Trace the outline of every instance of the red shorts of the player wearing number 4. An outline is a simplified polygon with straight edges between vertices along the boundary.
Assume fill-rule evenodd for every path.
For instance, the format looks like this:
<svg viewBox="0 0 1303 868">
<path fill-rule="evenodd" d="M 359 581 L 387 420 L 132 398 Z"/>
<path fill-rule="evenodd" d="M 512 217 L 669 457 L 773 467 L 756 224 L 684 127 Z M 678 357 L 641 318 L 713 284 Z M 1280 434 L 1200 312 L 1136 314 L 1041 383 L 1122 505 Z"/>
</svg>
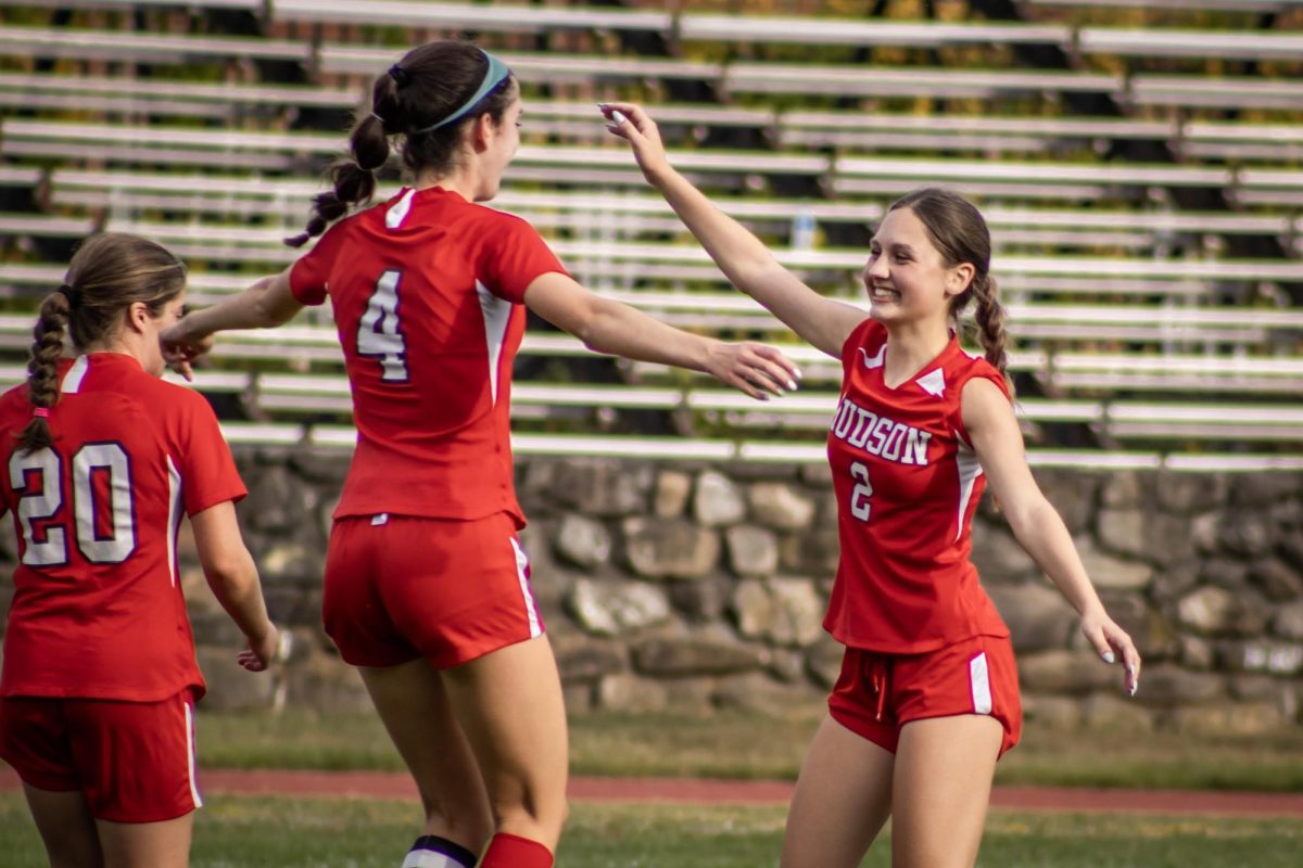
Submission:
<svg viewBox="0 0 1303 868">
<path fill-rule="evenodd" d="M 322 608 L 326 632 L 354 666 L 425 657 L 448 669 L 543 634 L 529 560 L 506 513 L 336 521 Z"/>
</svg>

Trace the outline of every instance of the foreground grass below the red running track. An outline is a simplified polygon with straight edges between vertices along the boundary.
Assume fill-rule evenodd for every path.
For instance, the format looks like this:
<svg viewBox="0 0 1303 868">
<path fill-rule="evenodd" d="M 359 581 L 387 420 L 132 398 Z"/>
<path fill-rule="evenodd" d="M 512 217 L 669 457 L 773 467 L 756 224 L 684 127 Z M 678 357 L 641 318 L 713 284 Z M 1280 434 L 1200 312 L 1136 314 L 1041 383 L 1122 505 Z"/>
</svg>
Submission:
<svg viewBox="0 0 1303 868">
<path fill-rule="evenodd" d="M 392 868 L 416 837 L 414 802 L 212 798 L 195 819 L 193 868 Z M 562 841 L 566 868 L 775 865 L 783 808 L 580 802 Z M 890 864 L 890 833 L 866 868 Z M 7 868 L 44 865 L 22 798 L 0 794 Z M 1296 820 L 1015 813 L 986 822 L 980 865 L 1197 868 L 1298 864 Z"/>
</svg>

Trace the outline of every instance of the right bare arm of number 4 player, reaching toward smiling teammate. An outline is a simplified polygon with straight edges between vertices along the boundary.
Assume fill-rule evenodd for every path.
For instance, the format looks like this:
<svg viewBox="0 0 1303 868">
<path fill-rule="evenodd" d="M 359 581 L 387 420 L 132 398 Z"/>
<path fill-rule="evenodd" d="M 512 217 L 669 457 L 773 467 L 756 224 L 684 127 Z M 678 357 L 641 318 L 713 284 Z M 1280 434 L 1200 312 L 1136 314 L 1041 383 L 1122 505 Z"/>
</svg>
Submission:
<svg viewBox="0 0 1303 868">
<path fill-rule="evenodd" d="M 683 332 L 628 305 L 594 295 L 559 272 L 536 277 L 525 290 L 525 305 L 589 349 L 702 371 L 753 398 L 796 389 L 800 377 L 791 359 L 771 346 L 726 344 Z"/>
</svg>

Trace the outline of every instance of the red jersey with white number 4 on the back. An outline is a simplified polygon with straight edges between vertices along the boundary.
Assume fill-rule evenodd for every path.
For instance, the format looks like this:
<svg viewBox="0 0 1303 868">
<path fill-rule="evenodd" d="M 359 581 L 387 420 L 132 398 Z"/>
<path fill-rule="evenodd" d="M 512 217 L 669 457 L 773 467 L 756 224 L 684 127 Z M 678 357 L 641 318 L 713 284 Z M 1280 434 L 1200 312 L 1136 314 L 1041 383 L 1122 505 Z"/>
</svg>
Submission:
<svg viewBox="0 0 1303 868">
<path fill-rule="evenodd" d="M 511 368 L 525 289 L 566 273 L 533 226 L 440 187 L 343 220 L 294 263 L 327 295 L 353 392 L 357 449 L 335 517 L 395 513 L 517 524 Z"/>
</svg>

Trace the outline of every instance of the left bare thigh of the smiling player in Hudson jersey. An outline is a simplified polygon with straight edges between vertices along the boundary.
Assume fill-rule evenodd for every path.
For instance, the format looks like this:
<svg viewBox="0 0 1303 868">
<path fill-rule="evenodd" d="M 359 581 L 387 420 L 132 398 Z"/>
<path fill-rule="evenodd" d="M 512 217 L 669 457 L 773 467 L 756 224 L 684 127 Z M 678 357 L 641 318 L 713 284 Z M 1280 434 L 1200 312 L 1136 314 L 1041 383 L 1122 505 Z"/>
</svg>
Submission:
<svg viewBox="0 0 1303 868">
<path fill-rule="evenodd" d="M 831 717 L 814 734 L 783 837 L 783 868 L 856 868 L 891 815 L 890 751 Z"/>
</svg>

